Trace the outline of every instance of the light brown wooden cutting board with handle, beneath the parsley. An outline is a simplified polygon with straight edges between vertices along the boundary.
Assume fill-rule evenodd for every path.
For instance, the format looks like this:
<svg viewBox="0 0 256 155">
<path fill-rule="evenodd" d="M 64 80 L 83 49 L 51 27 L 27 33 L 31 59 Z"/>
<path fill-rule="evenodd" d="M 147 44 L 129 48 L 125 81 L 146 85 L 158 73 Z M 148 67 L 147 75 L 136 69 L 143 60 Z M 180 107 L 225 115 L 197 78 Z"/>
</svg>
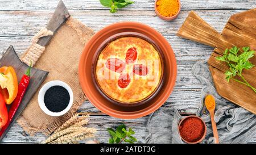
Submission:
<svg viewBox="0 0 256 155">
<path fill-rule="evenodd" d="M 208 64 L 218 94 L 256 114 L 254 91 L 236 81 L 227 82 L 224 73 L 229 69 L 228 65 L 216 60 L 217 56 L 223 55 L 226 48 L 231 48 L 234 45 L 240 48 L 250 46 L 254 51 L 256 50 L 256 9 L 232 15 L 222 33 L 218 33 L 199 15 L 191 11 L 177 32 L 177 36 L 215 47 Z M 250 61 L 256 65 L 256 56 Z M 256 87 L 255 66 L 250 70 L 244 69 L 242 74 L 247 82 Z"/>
</svg>

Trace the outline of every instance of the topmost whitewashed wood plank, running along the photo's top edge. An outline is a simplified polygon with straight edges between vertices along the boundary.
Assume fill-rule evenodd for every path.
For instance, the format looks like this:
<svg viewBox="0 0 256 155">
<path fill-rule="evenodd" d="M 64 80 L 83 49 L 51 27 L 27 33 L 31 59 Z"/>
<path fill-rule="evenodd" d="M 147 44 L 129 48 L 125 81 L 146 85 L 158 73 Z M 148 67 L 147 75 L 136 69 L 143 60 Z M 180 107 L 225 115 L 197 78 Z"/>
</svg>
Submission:
<svg viewBox="0 0 256 155">
<path fill-rule="evenodd" d="M 124 9 L 154 9 L 154 0 L 134 0 L 135 3 Z M 69 10 L 81 9 L 107 9 L 101 6 L 99 0 L 63 0 Z M 33 1 L 33 0 L 5 0 L 0 1 L 0 10 L 47 10 L 55 9 L 58 1 Z M 225 9 L 225 10 L 247 10 L 255 6 L 256 1 L 237 0 L 181 0 L 181 9 Z"/>
</svg>

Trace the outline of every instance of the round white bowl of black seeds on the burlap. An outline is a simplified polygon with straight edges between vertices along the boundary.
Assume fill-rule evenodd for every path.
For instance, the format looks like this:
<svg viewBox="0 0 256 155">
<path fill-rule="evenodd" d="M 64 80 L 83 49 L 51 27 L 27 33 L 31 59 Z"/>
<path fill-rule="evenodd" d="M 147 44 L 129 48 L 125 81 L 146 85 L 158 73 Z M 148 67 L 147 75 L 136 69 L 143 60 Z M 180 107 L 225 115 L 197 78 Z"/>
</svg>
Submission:
<svg viewBox="0 0 256 155">
<path fill-rule="evenodd" d="M 67 113 L 73 104 L 73 91 L 67 83 L 59 80 L 43 85 L 38 94 L 40 108 L 49 116 Z"/>
</svg>

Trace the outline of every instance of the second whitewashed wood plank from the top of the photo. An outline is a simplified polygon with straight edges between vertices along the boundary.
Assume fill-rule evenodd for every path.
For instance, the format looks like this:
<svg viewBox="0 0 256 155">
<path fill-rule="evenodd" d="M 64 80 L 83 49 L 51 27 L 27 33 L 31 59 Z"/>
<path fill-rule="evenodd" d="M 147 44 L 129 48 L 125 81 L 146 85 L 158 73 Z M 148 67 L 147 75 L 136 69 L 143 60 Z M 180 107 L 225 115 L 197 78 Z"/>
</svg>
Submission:
<svg viewBox="0 0 256 155">
<path fill-rule="evenodd" d="M 45 27 L 53 11 L 0 11 L 0 36 L 34 36 Z M 110 14 L 108 10 L 69 10 L 70 14 L 93 30 L 121 21 L 137 21 L 154 27 L 163 35 L 175 35 L 189 13 L 188 10 L 171 22 L 155 15 L 154 10 L 121 10 Z M 229 17 L 240 11 L 197 10 L 196 13 L 218 32 L 222 30 Z"/>
</svg>

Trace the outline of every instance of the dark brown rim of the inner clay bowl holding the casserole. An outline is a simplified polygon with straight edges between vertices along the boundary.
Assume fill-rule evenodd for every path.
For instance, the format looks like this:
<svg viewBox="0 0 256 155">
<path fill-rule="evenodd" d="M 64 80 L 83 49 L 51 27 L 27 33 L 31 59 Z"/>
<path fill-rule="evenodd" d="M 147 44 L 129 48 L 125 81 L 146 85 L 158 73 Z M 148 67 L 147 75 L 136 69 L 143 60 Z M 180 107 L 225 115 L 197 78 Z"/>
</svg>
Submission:
<svg viewBox="0 0 256 155">
<path fill-rule="evenodd" d="M 122 37 L 138 37 L 140 39 L 143 39 L 145 41 L 147 41 L 148 43 L 150 43 L 158 52 L 158 55 L 160 57 L 160 61 L 161 61 L 161 76 L 160 76 L 160 80 L 158 83 L 158 86 L 156 87 L 156 89 L 154 91 L 152 91 L 152 93 L 150 95 L 148 95 L 146 98 L 142 99 L 142 100 L 138 100 L 136 102 L 131 102 L 131 103 L 127 103 L 127 102 L 121 102 L 119 100 L 116 100 L 112 97 L 110 97 L 108 94 L 105 93 L 104 90 L 102 90 L 100 84 L 98 83 L 97 80 L 97 75 L 96 75 L 96 66 L 97 66 L 97 61 L 98 61 L 98 56 L 100 56 L 102 50 L 105 49 L 105 47 L 111 43 L 114 40 L 120 39 Z M 93 56 L 93 60 L 92 60 L 92 79 L 93 79 L 93 83 L 94 86 L 96 86 L 97 90 L 100 92 L 100 94 L 105 97 L 107 100 L 109 100 L 110 102 L 117 104 L 118 106 L 124 106 L 124 107 L 131 107 L 131 106 L 140 106 L 144 103 L 150 102 L 150 100 L 152 100 L 152 98 L 156 97 L 156 95 L 159 93 L 162 85 L 163 85 L 163 81 L 164 81 L 164 55 L 162 52 L 162 49 L 160 49 L 160 47 L 155 43 L 155 41 L 153 41 L 152 39 L 150 39 L 150 37 L 147 37 L 146 35 L 143 35 L 142 33 L 138 33 L 138 32 L 120 32 L 120 33 L 116 33 L 110 37 L 108 37 L 108 39 L 104 40 L 100 46 L 97 48 L 96 52 L 94 53 Z"/>
</svg>

